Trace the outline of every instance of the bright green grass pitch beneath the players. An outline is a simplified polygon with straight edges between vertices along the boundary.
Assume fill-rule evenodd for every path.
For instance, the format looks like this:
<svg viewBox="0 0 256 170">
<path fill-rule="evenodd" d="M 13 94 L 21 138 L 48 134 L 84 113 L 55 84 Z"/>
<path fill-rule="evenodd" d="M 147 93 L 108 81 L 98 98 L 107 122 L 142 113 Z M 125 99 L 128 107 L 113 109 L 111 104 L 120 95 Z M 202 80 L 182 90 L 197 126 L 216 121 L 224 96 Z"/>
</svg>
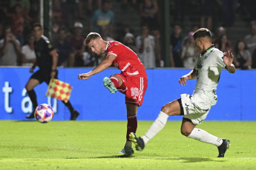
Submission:
<svg viewBox="0 0 256 170">
<path fill-rule="evenodd" d="M 144 135 L 152 121 L 139 121 Z M 256 169 L 256 123 L 206 121 L 198 128 L 227 137 L 232 146 L 217 158 L 217 147 L 180 134 L 180 121 L 165 128 L 142 152 L 118 154 L 125 121 L 0 121 L 0 169 Z"/>
</svg>

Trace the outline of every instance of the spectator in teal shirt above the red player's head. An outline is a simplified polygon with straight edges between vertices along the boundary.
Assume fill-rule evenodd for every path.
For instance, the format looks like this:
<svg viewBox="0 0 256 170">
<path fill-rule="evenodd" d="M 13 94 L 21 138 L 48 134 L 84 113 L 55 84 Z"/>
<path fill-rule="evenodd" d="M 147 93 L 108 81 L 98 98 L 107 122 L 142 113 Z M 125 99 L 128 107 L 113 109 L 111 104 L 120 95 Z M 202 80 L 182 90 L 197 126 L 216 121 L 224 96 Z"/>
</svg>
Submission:
<svg viewBox="0 0 256 170">
<path fill-rule="evenodd" d="M 102 1 L 102 9 L 96 10 L 90 20 L 90 30 L 94 33 L 99 33 L 100 27 L 108 28 L 110 37 L 113 36 L 114 12 L 110 10 L 111 2 L 108 0 Z"/>
</svg>

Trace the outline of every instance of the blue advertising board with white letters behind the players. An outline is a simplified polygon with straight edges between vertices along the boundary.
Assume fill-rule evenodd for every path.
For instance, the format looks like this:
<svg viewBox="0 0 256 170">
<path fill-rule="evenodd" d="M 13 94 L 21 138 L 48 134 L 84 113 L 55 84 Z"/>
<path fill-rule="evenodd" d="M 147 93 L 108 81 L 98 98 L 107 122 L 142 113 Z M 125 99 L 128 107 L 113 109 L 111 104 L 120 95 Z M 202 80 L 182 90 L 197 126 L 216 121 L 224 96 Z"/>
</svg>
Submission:
<svg viewBox="0 0 256 170">
<path fill-rule="evenodd" d="M 77 120 L 126 120 L 125 95 L 114 95 L 102 84 L 106 76 L 119 73 L 110 68 L 89 78 L 78 79 L 78 75 L 91 68 L 59 68 L 59 80 L 73 86 L 70 102 L 80 112 Z M 192 94 L 196 80 L 180 86 L 178 79 L 190 72 L 189 69 L 147 69 L 148 89 L 142 106 L 138 109 L 138 120 L 154 120 L 161 107 L 180 98 L 180 94 Z M 0 68 L 0 112 L 1 120 L 26 120 L 33 108 L 27 95 L 25 84 L 30 78 L 29 68 Z M 229 74 L 223 70 L 217 87 L 218 101 L 211 108 L 206 120 L 256 120 L 256 71 L 237 70 Z M 53 107 L 53 120 L 69 120 L 70 112 L 61 101 L 45 97 L 47 84 L 36 86 L 38 103 L 48 103 Z M 174 116 L 168 120 L 181 120 Z"/>
</svg>

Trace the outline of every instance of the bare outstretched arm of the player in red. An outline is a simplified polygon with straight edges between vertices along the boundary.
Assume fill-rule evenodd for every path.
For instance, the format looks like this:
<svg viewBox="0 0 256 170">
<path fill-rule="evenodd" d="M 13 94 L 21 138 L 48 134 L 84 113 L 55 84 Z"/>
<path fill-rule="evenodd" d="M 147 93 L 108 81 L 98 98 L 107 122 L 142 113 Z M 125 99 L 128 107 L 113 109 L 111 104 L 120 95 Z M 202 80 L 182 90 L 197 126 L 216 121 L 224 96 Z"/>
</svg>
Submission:
<svg viewBox="0 0 256 170">
<path fill-rule="evenodd" d="M 97 73 L 102 72 L 103 70 L 111 66 L 115 58 L 116 58 L 115 55 L 108 55 L 108 57 L 102 60 L 102 62 L 100 62 L 98 66 L 96 66 L 93 70 L 91 70 L 91 72 L 78 75 L 78 79 L 85 81 L 88 78 L 91 78 L 92 75 L 96 75 Z"/>
</svg>

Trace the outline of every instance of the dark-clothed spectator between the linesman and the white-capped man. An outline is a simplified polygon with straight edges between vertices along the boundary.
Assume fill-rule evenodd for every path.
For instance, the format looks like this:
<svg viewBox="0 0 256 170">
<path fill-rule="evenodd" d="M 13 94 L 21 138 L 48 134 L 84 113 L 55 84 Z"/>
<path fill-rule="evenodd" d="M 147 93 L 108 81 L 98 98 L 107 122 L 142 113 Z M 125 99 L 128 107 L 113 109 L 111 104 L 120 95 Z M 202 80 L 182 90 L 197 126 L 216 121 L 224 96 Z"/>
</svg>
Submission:
<svg viewBox="0 0 256 170">
<path fill-rule="evenodd" d="M 72 53 L 72 47 L 67 39 L 67 33 L 65 28 L 60 28 L 58 30 L 58 38 L 56 41 L 53 42 L 53 47 L 59 55 L 57 67 L 68 66 L 68 58 L 70 58 L 70 55 Z"/>
</svg>

